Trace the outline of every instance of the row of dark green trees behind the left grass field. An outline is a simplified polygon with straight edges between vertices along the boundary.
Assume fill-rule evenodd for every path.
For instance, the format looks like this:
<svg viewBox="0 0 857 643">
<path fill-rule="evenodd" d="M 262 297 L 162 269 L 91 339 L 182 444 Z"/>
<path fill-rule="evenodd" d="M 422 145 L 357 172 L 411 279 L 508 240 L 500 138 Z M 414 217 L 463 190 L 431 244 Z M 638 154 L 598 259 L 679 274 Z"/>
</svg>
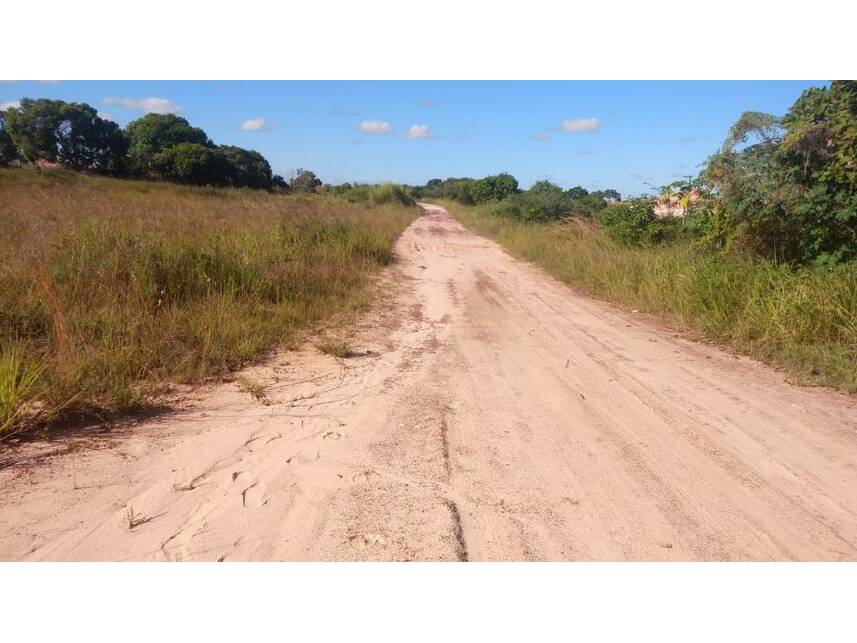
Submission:
<svg viewBox="0 0 857 643">
<path fill-rule="evenodd" d="M 322 185 L 308 170 L 287 182 L 259 152 L 217 145 L 174 114 L 146 114 L 122 129 L 91 105 L 45 98 L 0 111 L 0 165 L 16 162 L 192 185 L 279 191 Z"/>
</svg>

